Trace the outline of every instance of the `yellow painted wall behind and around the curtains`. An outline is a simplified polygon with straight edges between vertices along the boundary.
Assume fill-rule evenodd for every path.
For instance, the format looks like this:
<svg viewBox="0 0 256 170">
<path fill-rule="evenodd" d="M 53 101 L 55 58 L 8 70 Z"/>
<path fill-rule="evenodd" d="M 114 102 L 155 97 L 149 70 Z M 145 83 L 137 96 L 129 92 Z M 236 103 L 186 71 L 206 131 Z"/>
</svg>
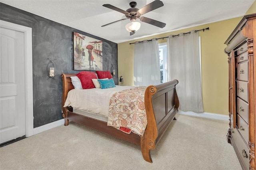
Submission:
<svg viewBox="0 0 256 170">
<path fill-rule="evenodd" d="M 248 10 L 248 14 L 255 13 L 256 2 Z M 202 55 L 202 97 L 204 112 L 228 115 L 228 56 L 224 53 L 224 42 L 230 36 L 242 17 L 205 24 L 157 36 L 138 39 L 150 40 L 168 35 L 176 35 L 190 30 L 200 30 L 209 27 L 210 30 L 199 32 L 201 36 Z M 134 85 L 134 44 L 135 41 L 118 43 L 118 75 L 122 75 L 124 82 L 120 85 Z M 166 42 L 158 40 L 159 43 Z"/>
</svg>

